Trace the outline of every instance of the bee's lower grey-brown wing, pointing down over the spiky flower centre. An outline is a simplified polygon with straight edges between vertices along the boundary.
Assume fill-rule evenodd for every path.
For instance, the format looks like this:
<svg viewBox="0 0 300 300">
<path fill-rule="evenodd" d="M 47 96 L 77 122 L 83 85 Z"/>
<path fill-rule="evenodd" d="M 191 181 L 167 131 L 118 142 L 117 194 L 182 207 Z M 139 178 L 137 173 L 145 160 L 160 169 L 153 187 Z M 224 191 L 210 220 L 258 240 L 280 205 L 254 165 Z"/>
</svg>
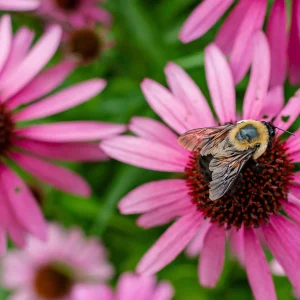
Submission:
<svg viewBox="0 0 300 300">
<path fill-rule="evenodd" d="M 228 147 L 211 160 L 209 164 L 209 169 L 212 171 L 212 180 L 209 185 L 211 200 L 217 200 L 228 192 L 254 151 L 253 148 L 237 151 L 233 147 Z"/>
</svg>

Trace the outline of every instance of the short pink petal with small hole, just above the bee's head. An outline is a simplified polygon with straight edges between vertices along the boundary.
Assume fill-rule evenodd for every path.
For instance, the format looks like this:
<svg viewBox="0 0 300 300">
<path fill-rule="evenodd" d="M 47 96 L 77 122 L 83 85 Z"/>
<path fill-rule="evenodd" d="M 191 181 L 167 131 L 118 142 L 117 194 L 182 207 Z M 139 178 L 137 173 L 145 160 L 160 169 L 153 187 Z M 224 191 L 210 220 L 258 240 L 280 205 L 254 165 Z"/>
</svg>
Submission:
<svg viewBox="0 0 300 300">
<path fill-rule="evenodd" d="M 261 109 L 261 115 L 264 119 L 272 119 L 276 116 L 284 105 L 284 91 L 283 86 L 278 85 L 271 88 L 263 100 L 263 107 Z"/>
</svg>

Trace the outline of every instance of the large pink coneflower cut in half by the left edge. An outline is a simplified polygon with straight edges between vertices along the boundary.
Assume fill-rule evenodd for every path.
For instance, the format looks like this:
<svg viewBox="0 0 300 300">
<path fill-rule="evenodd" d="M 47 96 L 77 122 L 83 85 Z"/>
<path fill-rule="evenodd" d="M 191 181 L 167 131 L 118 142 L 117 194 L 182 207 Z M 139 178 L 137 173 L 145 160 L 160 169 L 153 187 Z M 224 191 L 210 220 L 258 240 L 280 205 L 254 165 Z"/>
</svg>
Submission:
<svg viewBox="0 0 300 300">
<path fill-rule="evenodd" d="M 0 37 L 0 252 L 3 253 L 6 232 L 19 246 L 24 245 L 26 232 L 40 238 L 46 235 L 32 193 L 11 167 L 18 165 L 64 192 L 89 196 L 90 188 L 79 175 L 51 160 L 107 159 L 92 142 L 121 133 L 125 126 L 94 121 L 26 125 L 26 121 L 51 116 L 89 100 L 106 83 L 102 79 L 87 80 L 49 95 L 74 69 L 74 63 L 65 61 L 42 71 L 60 43 L 60 28 L 49 28 L 30 49 L 33 33 L 23 27 L 13 35 L 10 17 L 4 16 L 0 19 Z"/>
</svg>

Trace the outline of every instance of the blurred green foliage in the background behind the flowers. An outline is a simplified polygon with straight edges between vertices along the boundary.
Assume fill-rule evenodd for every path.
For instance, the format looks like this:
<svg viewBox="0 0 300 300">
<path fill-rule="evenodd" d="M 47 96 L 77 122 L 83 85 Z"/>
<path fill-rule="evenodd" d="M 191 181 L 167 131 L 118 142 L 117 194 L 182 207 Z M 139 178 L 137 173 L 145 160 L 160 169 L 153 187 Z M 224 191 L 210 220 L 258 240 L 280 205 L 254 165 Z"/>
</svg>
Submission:
<svg viewBox="0 0 300 300">
<path fill-rule="evenodd" d="M 82 119 L 128 123 L 132 116 L 157 118 L 141 93 L 140 83 L 145 77 L 149 77 L 166 84 L 163 69 L 168 61 L 176 62 L 188 71 L 209 99 L 203 50 L 213 41 L 222 21 L 203 38 L 190 44 L 181 44 L 177 38 L 181 25 L 198 3 L 199 0 L 107 1 L 105 6 L 114 16 L 109 38 L 115 41 L 115 46 L 104 52 L 93 64 L 78 67 L 60 89 L 94 77 L 105 78 L 108 86 L 91 101 L 49 120 Z M 22 25 L 35 30 L 37 37 L 43 32 L 39 20 L 30 15 L 13 13 L 14 30 Z M 57 63 L 62 57 L 63 54 L 58 52 L 50 64 Z M 242 107 L 247 83 L 248 77 L 237 86 L 238 109 Z M 295 87 L 287 85 L 286 98 L 295 91 Z M 293 130 L 299 124 L 298 120 Z M 69 165 L 91 184 L 93 195 L 90 199 L 64 194 L 25 176 L 40 195 L 41 206 L 48 220 L 67 227 L 79 226 L 86 234 L 103 240 L 110 261 L 116 269 L 112 281 L 115 284 L 120 273 L 134 270 L 142 255 L 167 228 L 165 226 L 143 230 L 137 227 L 135 216 L 119 214 L 118 201 L 140 184 L 174 177 L 176 174 L 139 169 L 113 160 Z M 159 279 L 169 280 L 174 285 L 175 299 L 253 299 L 245 271 L 229 255 L 215 289 L 206 289 L 199 285 L 197 261 L 198 259 L 189 259 L 181 254 L 158 274 Z M 288 280 L 283 277 L 274 279 L 278 299 L 293 299 Z M 0 298 L 5 299 L 5 295 L 6 292 L 2 290 Z"/>
</svg>

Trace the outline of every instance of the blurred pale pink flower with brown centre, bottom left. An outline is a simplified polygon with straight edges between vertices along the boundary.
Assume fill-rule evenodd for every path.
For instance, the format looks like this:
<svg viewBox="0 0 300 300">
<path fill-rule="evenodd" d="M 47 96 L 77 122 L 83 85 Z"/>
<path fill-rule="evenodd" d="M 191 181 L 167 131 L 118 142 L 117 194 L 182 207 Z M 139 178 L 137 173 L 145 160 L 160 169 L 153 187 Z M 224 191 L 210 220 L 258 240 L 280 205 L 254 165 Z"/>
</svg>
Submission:
<svg viewBox="0 0 300 300">
<path fill-rule="evenodd" d="M 24 249 L 3 258 L 2 286 L 14 291 L 9 299 L 69 300 L 79 284 L 111 278 L 113 268 L 99 240 L 55 224 L 48 231 L 47 242 L 29 237 Z"/>
</svg>

